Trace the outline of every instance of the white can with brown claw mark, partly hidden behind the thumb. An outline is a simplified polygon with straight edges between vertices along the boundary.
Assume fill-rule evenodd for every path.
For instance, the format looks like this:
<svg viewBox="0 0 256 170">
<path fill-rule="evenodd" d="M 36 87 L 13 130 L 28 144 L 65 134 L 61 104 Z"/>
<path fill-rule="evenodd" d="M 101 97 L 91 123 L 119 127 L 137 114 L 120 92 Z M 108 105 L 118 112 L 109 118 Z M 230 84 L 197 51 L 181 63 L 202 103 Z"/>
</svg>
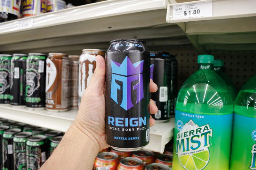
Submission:
<svg viewBox="0 0 256 170">
<path fill-rule="evenodd" d="M 88 86 L 92 74 L 96 68 L 96 56 L 101 55 L 105 58 L 105 50 L 99 49 L 84 49 L 79 57 L 79 75 L 78 75 L 78 107 L 81 102 L 81 97 L 84 90 Z"/>
</svg>

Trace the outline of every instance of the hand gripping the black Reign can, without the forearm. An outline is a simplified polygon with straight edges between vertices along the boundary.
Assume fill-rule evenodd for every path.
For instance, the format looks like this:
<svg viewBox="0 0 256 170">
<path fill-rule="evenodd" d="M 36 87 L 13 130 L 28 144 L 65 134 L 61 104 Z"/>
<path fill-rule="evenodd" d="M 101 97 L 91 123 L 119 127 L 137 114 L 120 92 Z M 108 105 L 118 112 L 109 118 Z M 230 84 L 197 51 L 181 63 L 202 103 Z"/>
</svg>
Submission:
<svg viewBox="0 0 256 170">
<path fill-rule="evenodd" d="M 149 89 L 150 92 L 157 90 L 157 85 L 151 79 Z M 149 108 L 151 114 L 157 112 L 152 99 Z M 149 123 L 150 126 L 155 124 L 151 116 Z M 82 96 L 74 125 L 93 140 L 99 151 L 109 147 L 105 139 L 105 60 L 100 55 L 96 57 L 96 68 Z"/>
</svg>

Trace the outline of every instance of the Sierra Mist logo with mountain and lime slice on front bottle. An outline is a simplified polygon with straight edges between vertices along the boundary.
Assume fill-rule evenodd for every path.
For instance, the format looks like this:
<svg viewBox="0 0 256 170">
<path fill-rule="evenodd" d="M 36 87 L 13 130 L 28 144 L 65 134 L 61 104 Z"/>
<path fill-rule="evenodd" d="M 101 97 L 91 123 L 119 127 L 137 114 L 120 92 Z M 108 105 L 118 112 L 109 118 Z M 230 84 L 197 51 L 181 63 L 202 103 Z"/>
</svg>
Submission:
<svg viewBox="0 0 256 170">
<path fill-rule="evenodd" d="M 212 129 L 209 124 L 198 126 L 192 120 L 177 134 L 176 154 L 187 170 L 204 169 L 210 159 L 208 147 Z"/>
</svg>

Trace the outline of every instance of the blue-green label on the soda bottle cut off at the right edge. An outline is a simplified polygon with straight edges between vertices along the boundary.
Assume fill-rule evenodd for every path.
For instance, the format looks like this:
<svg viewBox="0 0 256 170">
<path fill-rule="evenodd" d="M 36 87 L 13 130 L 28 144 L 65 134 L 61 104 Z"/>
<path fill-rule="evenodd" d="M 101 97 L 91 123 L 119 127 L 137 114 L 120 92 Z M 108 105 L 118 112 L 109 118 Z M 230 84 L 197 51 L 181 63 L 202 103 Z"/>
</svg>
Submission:
<svg viewBox="0 0 256 170">
<path fill-rule="evenodd" d="M 256 169 L 256 118 L 234 114 L 230 169 Z"/>
</svg>

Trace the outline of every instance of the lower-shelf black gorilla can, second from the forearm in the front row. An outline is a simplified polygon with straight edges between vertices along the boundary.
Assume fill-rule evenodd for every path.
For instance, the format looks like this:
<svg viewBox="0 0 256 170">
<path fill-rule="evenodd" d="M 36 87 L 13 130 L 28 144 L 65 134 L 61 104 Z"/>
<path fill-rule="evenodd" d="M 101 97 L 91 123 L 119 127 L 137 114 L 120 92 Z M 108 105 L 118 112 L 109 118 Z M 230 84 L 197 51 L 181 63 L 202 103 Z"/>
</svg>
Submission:
<svg viewBox="0 0 256 170">
<path fill-rule="evenodd" d="M 28 138 L 26 155 L 27 169 L 38 170 L 46 161 L 45 136 L 35 135 Z"/>
</svg>

